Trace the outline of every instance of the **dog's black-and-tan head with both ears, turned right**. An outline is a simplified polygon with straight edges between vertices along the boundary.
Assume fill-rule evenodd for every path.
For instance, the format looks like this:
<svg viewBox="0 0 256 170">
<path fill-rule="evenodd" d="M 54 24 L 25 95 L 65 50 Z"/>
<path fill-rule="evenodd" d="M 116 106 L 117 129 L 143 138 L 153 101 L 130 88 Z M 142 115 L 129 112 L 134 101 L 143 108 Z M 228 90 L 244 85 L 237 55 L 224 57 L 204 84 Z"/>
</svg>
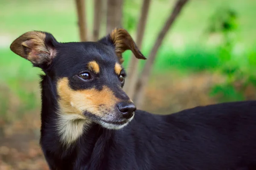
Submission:
<svg viewBox="0 0 256 170">
<path fill-rule="evenodd" d="M 119 129 L 133 119 L 136 107 L 122 90 L 125 70 L 122 53 L 131 50 L 145 59 L 130 34 L 114 29 L 97 42 L 60 43 L 52 34 L 27 32 L 11 50 L 40 67 L 55 83 L 59 114 L 89 119 Z"/>
</svg>

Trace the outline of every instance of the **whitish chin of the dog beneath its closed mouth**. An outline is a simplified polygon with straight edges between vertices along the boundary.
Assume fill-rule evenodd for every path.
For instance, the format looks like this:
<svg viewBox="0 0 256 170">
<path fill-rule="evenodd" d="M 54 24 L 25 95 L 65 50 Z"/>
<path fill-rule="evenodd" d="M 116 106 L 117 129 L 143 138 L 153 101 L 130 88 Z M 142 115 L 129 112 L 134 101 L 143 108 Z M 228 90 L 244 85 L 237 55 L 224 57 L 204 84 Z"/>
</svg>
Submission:
<svg viewBox="0 0 256 170">
<path fill-rule="evenodd" d="M 107 122 L 104 120 L 100 120 L 97 123 L 107 129 L 118 130 L 118 129 L 122 129 L 123 127 L 127 126 L 133 118 L 134 118 L 134 116 L 132 116 L 130 119 L 123 121 L 123 122 L 109 122 L 109 121 Z"/>
</svg>

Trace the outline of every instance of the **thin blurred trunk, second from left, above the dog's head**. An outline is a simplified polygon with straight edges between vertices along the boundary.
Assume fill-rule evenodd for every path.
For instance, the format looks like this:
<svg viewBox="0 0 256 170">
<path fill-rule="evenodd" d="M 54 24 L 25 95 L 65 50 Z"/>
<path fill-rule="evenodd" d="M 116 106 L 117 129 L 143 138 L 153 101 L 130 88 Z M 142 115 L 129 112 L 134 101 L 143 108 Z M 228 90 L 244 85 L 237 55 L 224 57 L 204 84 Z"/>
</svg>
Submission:
<svg viewBox="0 0 256 170">
<path fill-rule="evenodd" d="M 93 41 L 97 41 L 99 39 L 101 17 L 102 17 L 102 0 L 94 0 Z"/>
</svg>

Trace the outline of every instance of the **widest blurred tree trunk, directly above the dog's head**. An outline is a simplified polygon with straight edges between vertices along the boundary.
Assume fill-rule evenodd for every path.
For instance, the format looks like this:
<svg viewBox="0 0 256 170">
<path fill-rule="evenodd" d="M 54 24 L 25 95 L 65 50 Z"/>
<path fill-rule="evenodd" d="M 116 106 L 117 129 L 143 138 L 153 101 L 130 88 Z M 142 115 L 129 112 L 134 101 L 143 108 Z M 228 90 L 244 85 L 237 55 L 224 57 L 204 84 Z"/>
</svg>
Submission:
<svg viewBox="0 0 256 170">
<path fill-rule="evenodd" d="M 122 3 L 123 0 L 108 0 L 107 2 L 107 34 L 114 28 L 121 26 Z"/>
</svg>

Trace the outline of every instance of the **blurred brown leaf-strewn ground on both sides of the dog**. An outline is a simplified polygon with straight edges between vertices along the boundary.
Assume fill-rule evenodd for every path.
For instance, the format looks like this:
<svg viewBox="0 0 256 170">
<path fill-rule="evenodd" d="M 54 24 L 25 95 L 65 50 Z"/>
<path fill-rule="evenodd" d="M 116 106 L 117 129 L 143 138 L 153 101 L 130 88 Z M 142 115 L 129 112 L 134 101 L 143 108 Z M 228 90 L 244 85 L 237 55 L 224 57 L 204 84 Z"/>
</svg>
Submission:
<svg viewBox="0 0 256 170">
<path fill-rule="evenodd" d="M 152 113 L 168 114 L 216 103 L 215 99 L 209 98 L 209 90 L 222 81 L 221 77 L 207 73 L 189 77 L 154 77 L 147 88 L 144 108 Z M 255 89 L 248 91 L 252 90 L 255 92 Z M 8 101 L 12 103 L 9 112 L 19 104 L 15 102 L 15 96 L 11 99 Z M 6 122 L 0 118 L 0 170 L 48 170 L 38 145 L 40 108 L 30 112 L 15 121 Z"/>
</svg>

